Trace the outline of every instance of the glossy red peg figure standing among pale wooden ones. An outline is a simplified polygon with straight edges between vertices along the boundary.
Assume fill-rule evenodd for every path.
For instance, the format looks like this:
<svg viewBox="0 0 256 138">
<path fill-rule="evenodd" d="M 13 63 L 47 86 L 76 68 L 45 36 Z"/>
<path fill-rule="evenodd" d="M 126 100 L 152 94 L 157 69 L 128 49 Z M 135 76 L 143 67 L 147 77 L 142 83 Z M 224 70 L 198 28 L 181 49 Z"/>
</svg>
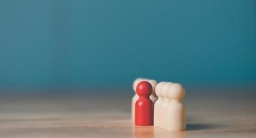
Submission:
<svg viewBox="0 0 256 138">
<path fill-rule="evenodd" d="M 138 83 L 136 92 L 139 99 L 135 103 L 135 125 L 136 126 L 153 126 L 153 102 L 149 99 L 152 93 L 151 83 L 142 81 Z"/>
</svg>

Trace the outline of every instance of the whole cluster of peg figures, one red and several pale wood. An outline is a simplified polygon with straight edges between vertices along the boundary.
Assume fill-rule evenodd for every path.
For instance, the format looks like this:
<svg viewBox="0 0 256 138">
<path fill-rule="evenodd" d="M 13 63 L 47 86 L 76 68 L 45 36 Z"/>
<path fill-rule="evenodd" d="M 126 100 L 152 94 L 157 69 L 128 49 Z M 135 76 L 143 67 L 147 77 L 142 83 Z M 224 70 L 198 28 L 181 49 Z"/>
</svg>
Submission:
<svg viewBox="0 0 256 138">
<path fill-rule="evenodd" d="M 185 88 L 179 83 L 138 78 L 133 82 L 133 90 L 132 119 L 136 126 L 186 129 L 186 110 L 181 103 Z"/>
</svg>

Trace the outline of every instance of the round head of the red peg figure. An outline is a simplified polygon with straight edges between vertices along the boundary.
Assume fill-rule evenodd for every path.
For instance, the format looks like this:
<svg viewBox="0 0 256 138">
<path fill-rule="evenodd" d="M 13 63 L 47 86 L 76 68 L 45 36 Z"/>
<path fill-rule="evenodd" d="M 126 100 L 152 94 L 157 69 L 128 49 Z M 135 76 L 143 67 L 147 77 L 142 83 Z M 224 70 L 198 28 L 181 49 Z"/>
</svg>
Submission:
<svg viewBox="0 0 256 138">
<path fill-rule="evenodd" d="M 153 88 L 148 81 L 141 81 L 137 84 L 136 92 L 141 97 L 149 97 L 152 94 Z"/>
</svg>

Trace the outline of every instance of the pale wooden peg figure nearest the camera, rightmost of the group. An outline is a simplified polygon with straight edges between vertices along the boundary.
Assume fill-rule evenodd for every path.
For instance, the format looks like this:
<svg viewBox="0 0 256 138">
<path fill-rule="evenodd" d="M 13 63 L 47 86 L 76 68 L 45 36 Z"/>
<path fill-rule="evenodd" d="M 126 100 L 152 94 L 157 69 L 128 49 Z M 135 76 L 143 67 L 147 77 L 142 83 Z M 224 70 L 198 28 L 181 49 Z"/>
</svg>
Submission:
<svg viewBox="0 0 256 138">
<path fill-rule="evenodd" d="M 181 100 L 185 97 L 185 89 L 179 83 L 172 83 L 167 90 L 167 112 L 164 128 L 173 131 L 186 129 L 186 110 Z"/>
</svg>

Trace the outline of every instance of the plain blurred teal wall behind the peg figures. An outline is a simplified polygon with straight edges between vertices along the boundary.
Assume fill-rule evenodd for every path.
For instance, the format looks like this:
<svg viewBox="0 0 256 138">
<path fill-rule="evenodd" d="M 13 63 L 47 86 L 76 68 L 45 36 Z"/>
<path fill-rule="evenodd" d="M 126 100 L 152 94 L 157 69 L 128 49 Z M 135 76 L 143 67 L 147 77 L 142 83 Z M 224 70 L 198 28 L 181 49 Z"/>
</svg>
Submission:
<svg viewBox="0 0 256 138">
<path fill-rule="evenodd" d="M 0 1 L 1 87 L 136 77 L 256 84 L 256 1 Z"/>
</svg>

